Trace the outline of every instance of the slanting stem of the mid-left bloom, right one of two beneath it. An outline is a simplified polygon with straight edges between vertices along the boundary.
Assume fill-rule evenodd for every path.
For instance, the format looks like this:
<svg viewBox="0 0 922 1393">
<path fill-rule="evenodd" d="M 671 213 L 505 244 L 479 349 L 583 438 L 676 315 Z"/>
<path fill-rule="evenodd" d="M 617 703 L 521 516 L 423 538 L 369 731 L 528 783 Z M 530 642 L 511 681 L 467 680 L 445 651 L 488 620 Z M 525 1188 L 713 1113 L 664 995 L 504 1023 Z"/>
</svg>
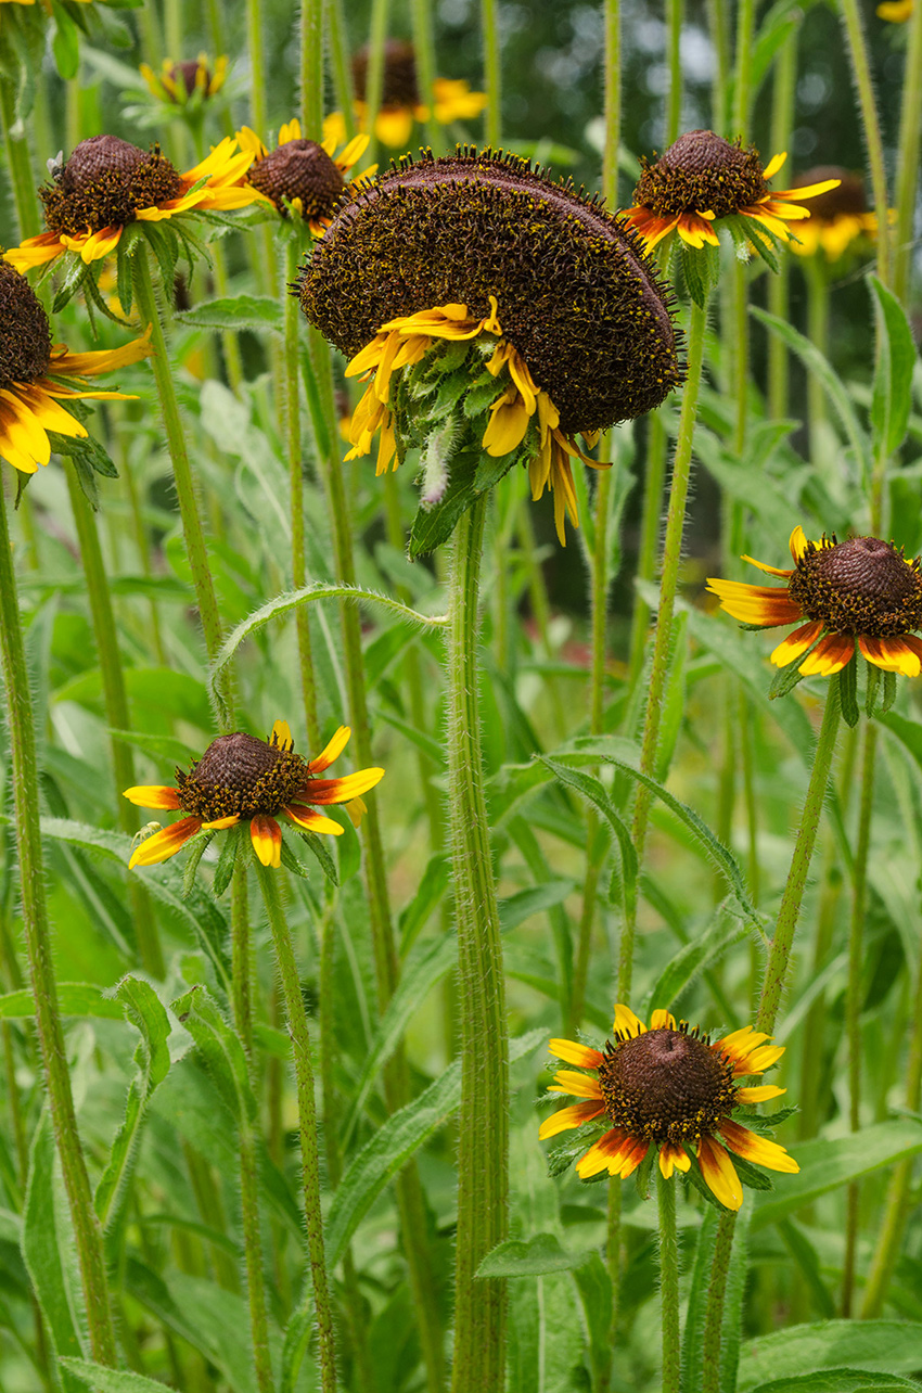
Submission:
<svg viewBox="0 0 922 1393">
<path fill-rule="evenodd" d="M 308 1259 L 313 1279 L 313 1305 L 318 1316 L 320 1386 L 323 1393 L 336 1390 L 336 1348 L 333 1343 L 333 1309 L 326 1275 L 323 1248 L 323 1217 L 320 1213 L 320 1158 L 318 1155 L 318 1112 L 313 1098 L 313 1066 L 311 1063 L 311 1032 L 304 1009 L 301 978 L 294 947 L 279 893 L 279 873 L 255 862 L 259 889 L 266 905 L 266 917 L 276 949 L 279 978 L 286 997 L 288 1034 L 294 1048 L 294 1071 L 298 1092 L 298 1130 L 301 1135 L 301 1178 L 304 1185 L 304 1217 L 308 1229 Z"/>
</svg>

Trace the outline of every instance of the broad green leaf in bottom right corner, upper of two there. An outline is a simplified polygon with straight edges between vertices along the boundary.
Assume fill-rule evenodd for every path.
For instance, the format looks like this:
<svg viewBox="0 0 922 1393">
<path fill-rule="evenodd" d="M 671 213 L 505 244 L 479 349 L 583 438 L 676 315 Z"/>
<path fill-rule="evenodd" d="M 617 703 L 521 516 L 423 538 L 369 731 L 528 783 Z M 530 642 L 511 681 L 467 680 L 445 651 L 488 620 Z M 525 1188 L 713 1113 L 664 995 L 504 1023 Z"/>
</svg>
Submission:
<svg viewBox="0 0 922 1393">
<path fill-rule="evenodd" d="M 747 1340 L 740 1360 L 740 1393 L 802 1376 L 805 1371 L 838 1368 L 889 1375 L 921 1369 L 922 1325 L 914 1321 L 822 1321 Z M 868 1379 L 865 1387 L 873 1385 L 875 1380 Z"/>
</svg>

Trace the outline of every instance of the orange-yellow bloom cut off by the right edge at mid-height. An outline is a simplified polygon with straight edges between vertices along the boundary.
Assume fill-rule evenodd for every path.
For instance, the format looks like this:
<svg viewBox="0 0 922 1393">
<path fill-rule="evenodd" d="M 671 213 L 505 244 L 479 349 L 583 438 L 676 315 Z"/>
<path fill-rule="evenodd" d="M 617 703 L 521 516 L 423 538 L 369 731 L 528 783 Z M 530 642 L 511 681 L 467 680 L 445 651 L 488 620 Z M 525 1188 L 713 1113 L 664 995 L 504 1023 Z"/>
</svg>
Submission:
<svg viewBox="0 0 922 1393">
<path fill-rule="evenodd" d="M 876 536 L 838 542 L 823 535 L 809 542 L 804 528 L 791 534 L 792 570 L 779 570 L 744 556 L 777 585 L 745 585 L 709 579 L 721 609 L 745 624 L 776 628 L 808 620 L 772 653 L 776 667 L 798 663 L 804 677 L 830 677 L 845 667 L 855 645 L 884 673 L 922 673 L 922 574 L 919 557 L 907 561 L 903 549 Z"/>
</svg>

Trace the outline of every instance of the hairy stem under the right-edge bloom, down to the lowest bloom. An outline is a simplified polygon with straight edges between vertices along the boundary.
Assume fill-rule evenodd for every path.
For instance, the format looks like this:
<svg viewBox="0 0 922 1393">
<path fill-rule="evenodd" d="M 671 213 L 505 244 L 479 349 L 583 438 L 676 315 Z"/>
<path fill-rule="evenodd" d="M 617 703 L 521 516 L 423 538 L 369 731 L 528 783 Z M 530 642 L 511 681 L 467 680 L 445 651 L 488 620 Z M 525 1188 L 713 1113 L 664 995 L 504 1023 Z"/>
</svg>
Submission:
<svg viewBox="0 0 922 1393">
<path fill-rule="evenodd" d="M 838 716 L 838 674 L 836 674 L 830 678 L 826 708 L 823 710 L 823 724 L 820 726 L 816 751 L 813 754 L 813 768 L 811 770 L 811 780 L 806 787 L 806 800 L 804 802 L 801 825 L 794 844 L 791 869 L 788 871 L 787 885 L 784 886 L 784 896 L 781 897 L 781 907 L 774 926 L 774 937 L 772 939 L 772 949 L 769 951 L 769 960 L 765 965 L 765 976 L 762 979 L 762 999 L 759 1002 L 759 1014 L 756 1017 L 755 1028 L 758 1031 L 765 1031 L 766 1035 L 772 1035 L 774 1031 L 774 1021 L 779 1014 L 781 996 L 784 995 L 784 986 L 787 983 L 794 931 L 797 929 L 797 921 L 801 914 L 804 886 L 806 885 L 806 875 L 813 857 L 813 847 L 816 846 L 819 819 L 823 811 L 823 800 L 826 798 L 826 790 L 829 787 L 829 770 L 836 749 Z"/>
</svg>

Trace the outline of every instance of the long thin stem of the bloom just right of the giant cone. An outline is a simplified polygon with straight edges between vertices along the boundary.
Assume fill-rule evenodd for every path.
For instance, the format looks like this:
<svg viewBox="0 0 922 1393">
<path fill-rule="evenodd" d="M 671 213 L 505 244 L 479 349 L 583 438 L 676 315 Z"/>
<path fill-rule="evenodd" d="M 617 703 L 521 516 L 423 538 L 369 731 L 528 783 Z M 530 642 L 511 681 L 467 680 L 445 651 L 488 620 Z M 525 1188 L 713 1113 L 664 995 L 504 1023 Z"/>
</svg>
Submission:
<svg viewBox="0 0 922 1393">
<path fill-rule="evenodd" d="M 643 720 L 643 741 L 641 745 L 641 769 L 646 775 L 653 775 L 656 769 L 656 749 L 659 744 L 662 715 L 660 706 L 666 688 L 669 648 L 673 632 L 673 609 L 675 606 L 675 592 L 678 589 L 678 564 L 682 554 L 682 531 L 685 525 L 688 481 L 691 476 L 692 437 L 695 433 L 695 415 L 698 411 L 698 389 L 701 387 L 701 373 L 705 354 L 706 322 L 706 311 L 698 305 L 692 305 L 691 327 L 688 332 L 688 378 L 685 380 L 685 390 L 682 394 L 678 440 L 675 443 L 675 460 L 673 462 L 673 479 L 669 493 L 666 540 L 663 543 L 663 574 L 660 578 L 660 603 L 656 617 L 653 666 L 650 670 L 646 716 Z M 634 805 L 634 820 L 631 826 L 631 836 L 634 839 L 634 846 L 636 847 L 639 864 L 643 862 L 649 809 L 650 793 L 641 784 L 636 794 L 636 802 Z M 625 914 L 624 932 L 621 935 L 618 1000 L 625 1003 L 631 999 L 635 931 L 636 905 L 631 908 L 630 914 Z"/>
</svg>

